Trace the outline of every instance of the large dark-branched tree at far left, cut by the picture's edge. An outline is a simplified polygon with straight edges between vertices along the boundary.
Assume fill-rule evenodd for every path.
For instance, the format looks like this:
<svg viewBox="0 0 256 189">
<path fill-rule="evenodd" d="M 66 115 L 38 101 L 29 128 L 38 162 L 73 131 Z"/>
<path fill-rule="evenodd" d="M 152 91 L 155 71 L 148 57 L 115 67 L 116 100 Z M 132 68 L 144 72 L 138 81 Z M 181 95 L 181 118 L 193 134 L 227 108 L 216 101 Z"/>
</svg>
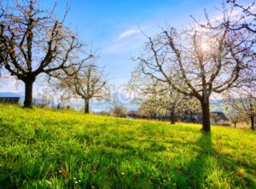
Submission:
<svg viewBox="0 0 256 189">
<path fill-rule="evenodd" d="M 5 69 L 25 83 L 24 107 L 32 107 L 32 87 L 38 75 L 73 75 L 84 65 L 76 61 L 75 52 L 81 48 L 78 37 L 64 20 L 56 18 L 53 9 L 40 9 L 38 0 L 14 1 L 6 6 L 0 20 L 0 41 L 6 52 L 1 55 Z M 73 72 L 68 72 L 68 68 Z"/>
</svg>

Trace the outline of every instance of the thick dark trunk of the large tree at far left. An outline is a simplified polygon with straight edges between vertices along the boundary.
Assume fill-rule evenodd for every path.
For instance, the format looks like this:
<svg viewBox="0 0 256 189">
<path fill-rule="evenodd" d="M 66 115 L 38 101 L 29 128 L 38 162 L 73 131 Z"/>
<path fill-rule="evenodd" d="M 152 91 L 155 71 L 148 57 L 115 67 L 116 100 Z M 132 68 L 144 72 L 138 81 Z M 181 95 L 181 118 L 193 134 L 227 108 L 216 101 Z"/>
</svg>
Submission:
<svg viewBox="0 0 256 189">
<path fill-rule="evenodd" d="M 32 92 L 33 92 L 33 83 L 34 78 L 26 78 L 23 82 L 25 83 L 25 100 L 24 106 L 26 108 L 32 108 Z"/>
</svg>

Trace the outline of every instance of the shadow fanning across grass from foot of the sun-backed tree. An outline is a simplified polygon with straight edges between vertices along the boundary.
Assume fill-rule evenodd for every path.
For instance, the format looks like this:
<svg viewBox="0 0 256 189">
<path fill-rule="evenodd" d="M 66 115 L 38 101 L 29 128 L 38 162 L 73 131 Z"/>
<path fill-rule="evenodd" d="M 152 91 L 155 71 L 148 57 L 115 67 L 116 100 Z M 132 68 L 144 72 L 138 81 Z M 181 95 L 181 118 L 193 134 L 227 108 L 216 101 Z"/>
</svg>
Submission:
<svg viewBox="0 0 256 189">
<path fill-rule="evenodd" d="M 188 183 L 192 188 L 254 188 L 255 183 L 245 175 L 237 175 L 241 163 L 230 155 L 219 153 L 212 146 L 211 133 L 202 133 L 197 141 L 198 155 L 188 165 Z"/>
</svg>

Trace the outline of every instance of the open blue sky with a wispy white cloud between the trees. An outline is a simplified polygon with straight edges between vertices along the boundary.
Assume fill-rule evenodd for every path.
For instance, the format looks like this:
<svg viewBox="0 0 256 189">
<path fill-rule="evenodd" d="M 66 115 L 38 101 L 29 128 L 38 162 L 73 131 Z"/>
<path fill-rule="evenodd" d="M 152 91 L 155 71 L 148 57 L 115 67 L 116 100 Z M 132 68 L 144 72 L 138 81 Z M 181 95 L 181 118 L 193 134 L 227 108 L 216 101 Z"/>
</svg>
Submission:
<svg viewBox="0 0 256 189">
<path fill-rule="evenodd" d="M 54 0 L 41 1 L 47 8 Z M 246 1 L 244 1 L 246 2 Z M 148 36 L 160 31 L 160 26 L 188 26 L 191 19 L 203 20 L 203 9 L 212 16 L 220 14 L 222 0 L 69 0 L 71 9 L 67 15 L 67 24 L 79 32 L 84 43 L 92 43 L 101 56 L 99 64 L 111 79 L 110 83 L 124 85 L 131 77 L 137 62 L 131 61 L 131 55 L 137 56 L 143 49 L 143 30 Z M 66 1 L 59 1 L 56 14 L 64 14 Z M 139 28 L 140 26 L 140 28 Z M 40 86 L 39 81 L 37 87 Z M 14 80 L 8 80 L 0 91 L 23 91 L 23 84 L 15 87 Z"/>
</svg>

